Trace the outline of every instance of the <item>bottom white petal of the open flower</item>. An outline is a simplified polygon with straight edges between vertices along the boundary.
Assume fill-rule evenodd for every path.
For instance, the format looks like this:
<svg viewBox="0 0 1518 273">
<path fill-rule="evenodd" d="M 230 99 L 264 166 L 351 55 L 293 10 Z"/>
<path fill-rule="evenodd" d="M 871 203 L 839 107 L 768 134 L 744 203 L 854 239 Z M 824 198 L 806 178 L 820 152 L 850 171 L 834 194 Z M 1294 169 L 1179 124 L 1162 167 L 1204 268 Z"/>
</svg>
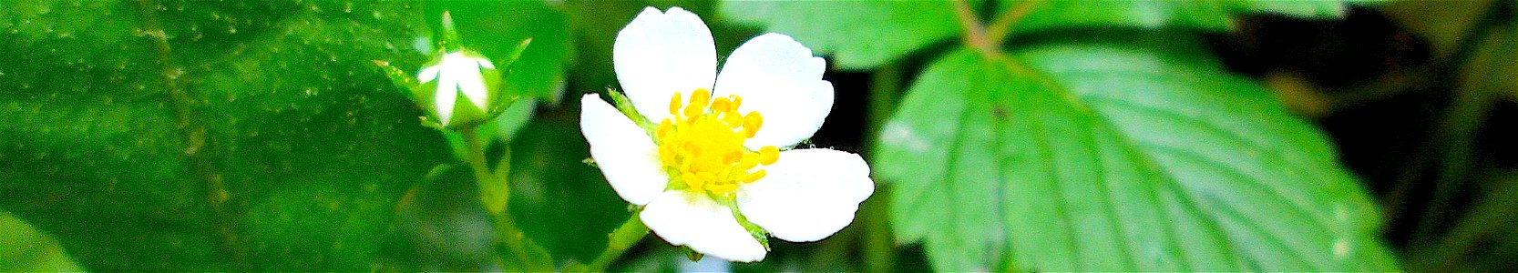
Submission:
<svg viewBox="0 0 1518 273">
<path fill-rule="evenodd" d="M 764 259 L 765 249 L 732 209 L 710 197 L 686 191 L 665 191 L 639 215 L 650 231 L 669 244 L 691 246 L 695 252 L 727 261 L 751 262 Z"/>
</svg>

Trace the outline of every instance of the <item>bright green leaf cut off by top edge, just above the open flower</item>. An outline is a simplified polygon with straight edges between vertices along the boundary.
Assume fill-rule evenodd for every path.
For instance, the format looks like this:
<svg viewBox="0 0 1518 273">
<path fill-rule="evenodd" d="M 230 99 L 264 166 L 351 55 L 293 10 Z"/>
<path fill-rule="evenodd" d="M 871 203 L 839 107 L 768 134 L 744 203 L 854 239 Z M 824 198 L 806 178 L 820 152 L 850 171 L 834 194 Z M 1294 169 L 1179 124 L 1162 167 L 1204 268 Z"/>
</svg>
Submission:
<svg viewBox="0 0 1518 273">
<path fill-rule="evenodd" d="M 791 35 L 842 70 L 874 68 L 962 32 L 952 2 L 723 2 L 721 17 Z"/>
</svg>

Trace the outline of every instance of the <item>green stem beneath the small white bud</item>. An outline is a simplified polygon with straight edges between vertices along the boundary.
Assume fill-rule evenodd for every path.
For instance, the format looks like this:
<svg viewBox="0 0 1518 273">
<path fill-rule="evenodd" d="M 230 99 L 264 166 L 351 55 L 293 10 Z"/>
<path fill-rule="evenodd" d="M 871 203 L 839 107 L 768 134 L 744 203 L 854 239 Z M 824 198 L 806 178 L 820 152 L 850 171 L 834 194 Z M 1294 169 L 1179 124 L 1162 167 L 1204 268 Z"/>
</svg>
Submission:
<svg viewBox="0 0 1518 273">
<path fill-rule="evenodd" d="M 484 146 L 480 143 L 478 127 L 463 127 L 458 129 L 458 133 L 465 138 L 465 162 L 474 170 L 475 182 L 480 187 L 480 203 L 490 212 L 490 218 L 495 220 L 496 235 L 501 243 L 505 244 L 507 250 L 512 252 L 512 256 L 524 270 L 553 270 L 553 259 L 540 255 L 546 252 L 531 244 L 527 235 L 516 228 L 512 209 L 507 208 L 512 197 L 512 187 L 502 179 L 505 176 L 496 177 L 490 171 L 489 161 L 484 159 Z M 501 161 L 510 161 L 510 158 L 502 158 Z"/>
</svg>

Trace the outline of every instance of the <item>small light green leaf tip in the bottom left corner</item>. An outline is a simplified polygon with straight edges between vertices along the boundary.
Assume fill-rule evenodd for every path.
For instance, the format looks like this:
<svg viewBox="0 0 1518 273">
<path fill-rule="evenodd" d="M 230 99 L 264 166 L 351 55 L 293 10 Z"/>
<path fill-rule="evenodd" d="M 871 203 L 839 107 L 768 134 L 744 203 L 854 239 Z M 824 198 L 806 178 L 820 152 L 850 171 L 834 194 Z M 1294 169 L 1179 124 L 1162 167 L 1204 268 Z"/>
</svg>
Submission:
<svg viewBox="0 0 1518 273">
<path fill-rule="evenodd" d="M 80 271 L 58 240 L 0 211 L 0 271 Z"/>
</svg>

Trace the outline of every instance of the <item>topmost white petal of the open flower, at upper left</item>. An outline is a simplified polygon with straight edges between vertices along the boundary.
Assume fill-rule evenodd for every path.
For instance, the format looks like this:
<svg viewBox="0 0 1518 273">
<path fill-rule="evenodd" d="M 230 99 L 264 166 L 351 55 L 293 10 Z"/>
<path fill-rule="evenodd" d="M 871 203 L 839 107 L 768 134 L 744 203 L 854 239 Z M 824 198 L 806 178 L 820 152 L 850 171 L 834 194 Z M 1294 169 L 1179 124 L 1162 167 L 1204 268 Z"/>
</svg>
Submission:
<svg viewBox="0 0 1518 273">
<path fill-rule="evenodd" d="M 616 33 L 612 46 L 616 80 L 638 112 L 650 121 L 669 115 L 669 97 L 710 89 L 716 77 L 716 46 L 700 17 L 680 8 L 645 8 Z"/>
</svg>

